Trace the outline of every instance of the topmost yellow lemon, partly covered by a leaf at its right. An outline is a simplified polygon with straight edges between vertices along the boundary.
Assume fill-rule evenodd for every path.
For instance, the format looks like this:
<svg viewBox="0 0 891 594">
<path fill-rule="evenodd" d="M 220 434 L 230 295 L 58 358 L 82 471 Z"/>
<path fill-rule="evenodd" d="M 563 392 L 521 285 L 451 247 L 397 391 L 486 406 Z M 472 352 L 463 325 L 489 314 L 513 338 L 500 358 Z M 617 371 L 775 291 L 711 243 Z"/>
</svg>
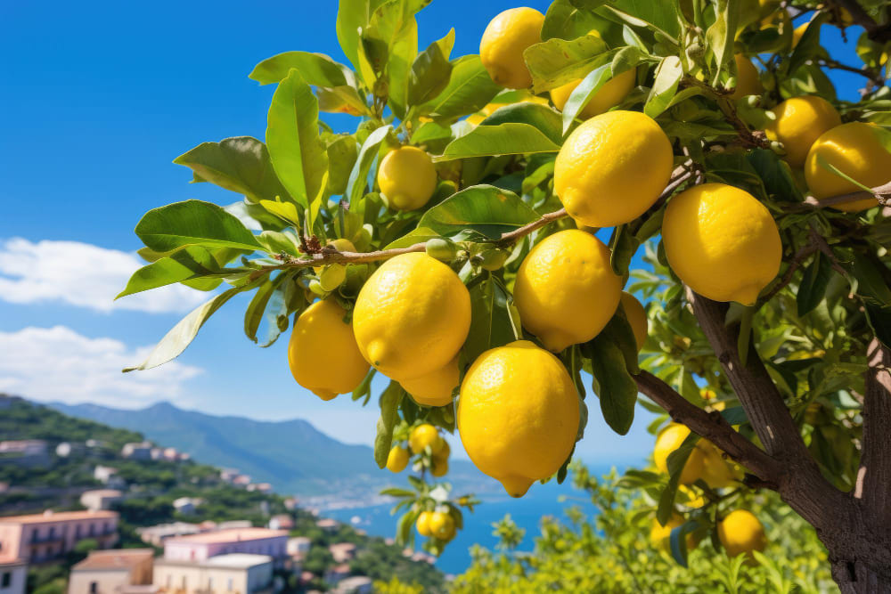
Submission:
<svg viewBox="0 0 891 594">
<path fill-rule="evenodd" d="M 529 45 L 542 40 L 544 14 L 520 6 L 498 14 L 479 41 L 479 60 L 496 85 L 524 89 L 532 85 L 532 75 L 523 60 Z"/>
</svg>

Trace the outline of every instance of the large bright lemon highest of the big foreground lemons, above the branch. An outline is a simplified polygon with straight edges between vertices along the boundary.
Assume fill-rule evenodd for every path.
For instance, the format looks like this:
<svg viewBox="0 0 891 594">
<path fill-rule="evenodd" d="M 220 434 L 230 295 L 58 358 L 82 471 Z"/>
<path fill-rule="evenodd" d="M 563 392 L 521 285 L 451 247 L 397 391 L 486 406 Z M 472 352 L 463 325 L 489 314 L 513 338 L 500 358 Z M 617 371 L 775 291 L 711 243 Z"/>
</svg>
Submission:
<svg viewBox="0 0 891 594">
<path fill-rule="evenodd" d="M 671 142 L 652 118 L 612 110 L 569 134 L 554 163 L 554 191 L 580 225 L 625 224 L 658 199 L 672 163 Z"/>
</svg>

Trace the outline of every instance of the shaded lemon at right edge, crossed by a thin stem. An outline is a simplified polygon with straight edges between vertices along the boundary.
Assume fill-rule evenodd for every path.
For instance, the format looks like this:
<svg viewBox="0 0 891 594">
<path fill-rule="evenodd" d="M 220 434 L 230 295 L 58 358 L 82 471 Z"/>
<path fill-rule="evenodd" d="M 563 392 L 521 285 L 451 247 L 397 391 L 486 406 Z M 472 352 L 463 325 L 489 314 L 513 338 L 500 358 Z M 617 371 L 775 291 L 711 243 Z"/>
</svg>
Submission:
<svg viewBox="0 0 891 594">
<path fill-rule="evenodd" d="M 887 183 L 891 153 L 882 146 L 879 134 L 878 128 L 862 122 L 842 124 L 821 134 L 805 160 L 805 182 L 813 197 L 824 199 L 861 190 L 824 167 L 822 160 L 867 188 Z M 854 213 L 878 204 L 877 199 L 867 198 L 832 207 Z"/>
</svg>

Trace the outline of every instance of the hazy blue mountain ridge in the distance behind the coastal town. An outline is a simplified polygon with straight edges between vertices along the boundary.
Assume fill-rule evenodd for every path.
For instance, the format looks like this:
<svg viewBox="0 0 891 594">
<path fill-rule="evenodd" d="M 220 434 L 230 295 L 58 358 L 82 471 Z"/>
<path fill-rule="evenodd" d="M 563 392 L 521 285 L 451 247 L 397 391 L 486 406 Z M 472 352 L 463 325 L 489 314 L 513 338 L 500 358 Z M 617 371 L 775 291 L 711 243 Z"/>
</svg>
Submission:
<svg viewBox="0 0 891 594">
<path fill-rule="evenodd" d="M 140 411 L 97 404 L 50 406 L 72 417 L 138 431 L 205 464 L 238 468 L 254 482 L 272 484 L 279 493 L 367 500 L 380 488 L 403 480 L 377 467 L 371 447 L 341 443 L 303 419 L 217 417 L 171 403 Z M 456 489 L 486 489 L 485 477 L 470 462 L 452 460 L 449 466 L 449 480 Z"/>
</svg>

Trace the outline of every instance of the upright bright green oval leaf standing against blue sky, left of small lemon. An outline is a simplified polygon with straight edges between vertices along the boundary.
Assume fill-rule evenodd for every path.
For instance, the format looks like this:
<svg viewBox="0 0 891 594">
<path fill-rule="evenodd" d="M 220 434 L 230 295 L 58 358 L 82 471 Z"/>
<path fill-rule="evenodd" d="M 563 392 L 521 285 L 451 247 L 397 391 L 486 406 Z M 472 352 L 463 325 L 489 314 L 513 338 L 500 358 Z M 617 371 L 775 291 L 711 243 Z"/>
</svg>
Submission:
<svg viewBox="0 0 891 594">
<path fill-rule="evenodd" d="M 275 89 L 266 118 L 266 144 L 276 175 L 299 205 L 319 196 L 328 155 L 319 138 L 319 110 L 312 89 L 296 69 Z M 308 226 L 312 228 L 312 221 Z"/>
</svg>

